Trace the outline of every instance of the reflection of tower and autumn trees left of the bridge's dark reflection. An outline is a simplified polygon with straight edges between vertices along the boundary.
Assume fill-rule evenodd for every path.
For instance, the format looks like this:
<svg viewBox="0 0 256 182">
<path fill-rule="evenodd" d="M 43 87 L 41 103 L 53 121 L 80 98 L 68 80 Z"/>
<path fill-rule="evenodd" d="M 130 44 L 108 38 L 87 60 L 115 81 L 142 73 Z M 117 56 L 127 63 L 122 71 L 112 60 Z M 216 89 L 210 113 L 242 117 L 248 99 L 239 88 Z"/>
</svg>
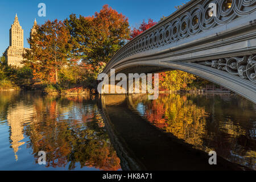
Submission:
<svg viewBox="0 0 256 182">
<path fill-rule="evenodd" d="M 0 129 L 3 134 L 6 132 L 3 131 L 4 126 L 9 126 L 9 143 L 16 163 L 7 146 L 3 146 L 2 150 L 6 152 L 0 155 L 1 169 L 15 169 L 17 165 L 18 169 L 36 169 L 39 167 L 36 164 L 39 151 L 46 151 L 45 167 L 101 170 L 121 168 L 95 100 L 82 96 L 12 94 L 1 93 Z M 19 163 L 20 148 L 27 153 L 31 152 L 34 160 L 27 157 L 27 164 Z M 20 156 L 24 158 L 23 153 Z"/>
</svg>

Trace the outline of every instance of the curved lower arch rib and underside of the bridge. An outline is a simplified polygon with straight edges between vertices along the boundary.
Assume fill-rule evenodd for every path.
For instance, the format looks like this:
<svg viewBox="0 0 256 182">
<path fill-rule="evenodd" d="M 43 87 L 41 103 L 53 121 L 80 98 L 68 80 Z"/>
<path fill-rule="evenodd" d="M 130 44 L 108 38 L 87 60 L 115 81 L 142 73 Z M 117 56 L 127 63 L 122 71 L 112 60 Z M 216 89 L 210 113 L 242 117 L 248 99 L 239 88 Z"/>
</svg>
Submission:
<svg viewBox="0 0 256 182">
<path fill-rule="evenodd" d="M 249 59 L 249 58 L 247 58 Z M 180 70 L 193 75 L 204 78 L 205 80 L 214 82 L 218 85 L 224 86 L 225 88 L 232 90 L 242 97 L 256 104 L 256 84 L 250 80 L 246 80 L 238 76 L 237 74 L 232 75 L 229 72 L 222 71 L 220 69 L 209 67 L 202 63 L 191 63 L 191 62 L 178 62 L 178 61 L 160 61 L 160 60 L 149 60 L 149 61 L 130 61 L 123 64 L 118 64 L 115 67 L 115 74 L 125 73 L 128 76 L 129 73 L 160 73 L 164 71 Z M 108 73 L 110 75 L 110 73 Z"/>
</svg>

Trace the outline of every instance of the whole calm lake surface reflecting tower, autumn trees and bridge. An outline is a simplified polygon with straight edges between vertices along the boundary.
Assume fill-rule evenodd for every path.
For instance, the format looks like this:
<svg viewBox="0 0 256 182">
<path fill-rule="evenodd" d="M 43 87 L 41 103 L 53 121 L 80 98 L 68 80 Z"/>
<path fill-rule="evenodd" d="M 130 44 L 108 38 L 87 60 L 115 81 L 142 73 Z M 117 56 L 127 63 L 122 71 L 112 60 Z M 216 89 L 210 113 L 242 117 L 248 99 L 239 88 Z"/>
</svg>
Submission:
<svg viewBox="0 0 256 182">
<path fill-rule="evenodd" d="M 0 170 L 255 170 L 255 113 L 236 94 L 0 92 Z"/>
</svg>

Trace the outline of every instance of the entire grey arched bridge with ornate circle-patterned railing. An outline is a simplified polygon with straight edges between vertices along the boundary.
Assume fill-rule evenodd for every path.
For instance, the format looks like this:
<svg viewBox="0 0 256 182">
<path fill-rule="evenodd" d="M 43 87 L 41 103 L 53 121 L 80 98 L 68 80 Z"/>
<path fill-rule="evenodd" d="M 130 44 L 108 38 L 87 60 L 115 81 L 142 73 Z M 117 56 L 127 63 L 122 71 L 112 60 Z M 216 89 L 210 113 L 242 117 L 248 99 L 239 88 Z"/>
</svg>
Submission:
<svg viewBox="0 0 256 182">
<path fill-rule="evenodd" d="M 189 1 L 119 49 L 103 72 L 178 69 L 256 103 L 255 10 L 256 0 Z"/>
</svg>

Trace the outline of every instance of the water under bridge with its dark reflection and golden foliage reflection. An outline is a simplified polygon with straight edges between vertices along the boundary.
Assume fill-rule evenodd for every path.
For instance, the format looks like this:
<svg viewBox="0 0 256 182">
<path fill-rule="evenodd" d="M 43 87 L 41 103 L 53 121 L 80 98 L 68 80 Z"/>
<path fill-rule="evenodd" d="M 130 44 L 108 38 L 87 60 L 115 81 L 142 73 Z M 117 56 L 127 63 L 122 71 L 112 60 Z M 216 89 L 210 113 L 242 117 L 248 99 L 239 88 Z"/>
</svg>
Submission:
<svg viewBox="0 0 256 182">
<path fill-rule="evenodd" d="M 237 163 L 255 169 L 255 105 L 241 97 L 106 95 L 102 104 L 123 168 L 242 169 Z M 211 150 L 216 166 L 208 163 Z"/>
</svg>

